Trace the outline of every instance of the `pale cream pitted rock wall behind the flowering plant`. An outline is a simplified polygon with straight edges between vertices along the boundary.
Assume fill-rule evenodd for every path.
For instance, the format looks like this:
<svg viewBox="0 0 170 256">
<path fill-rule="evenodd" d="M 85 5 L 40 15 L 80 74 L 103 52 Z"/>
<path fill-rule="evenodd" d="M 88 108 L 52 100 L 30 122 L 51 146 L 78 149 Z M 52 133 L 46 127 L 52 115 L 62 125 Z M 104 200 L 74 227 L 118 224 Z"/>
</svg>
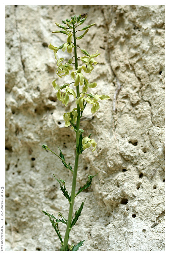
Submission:
<svg viewBox="0 0 170 256">
<path fill-rule="evenodd" d="M 96 23 L 78 46 L 95 54 L 98 64 L 92 93 L 107 94 L 97 113 L 87 106 L 81 129 L 98 143 L 80 155 L 77 189 L 88 175 L 98 175 L 76 197 L 84 203 L 69 244 L 86 239 L 79 251 L 164 251 L 164 5 L 6 5 L 5 246 L 7 251 L 59 251 L 48 217 L 68 214 L 58 182 L 70 191 L 72 173 L 42 144 L 74 166 L 75 132 L 62 116 L 75 107 L 56 99 L 57 77 L 48 44 L 60 46 L 64 34 L 52 34 L 55 22 L 88 12 L 84 24 Z M 78 56 L 82 53 L 78 50 Z M 73 56 L 73 53 L 72 53 Z M 57 57 L 67 60 L 67 52 Z M 79 62 L 80 64 L 80 62 Z M 113 111 L 113 98 L 121 90 Z M 64 237 L 65 224 L 59 225 Z"/>
</svg>

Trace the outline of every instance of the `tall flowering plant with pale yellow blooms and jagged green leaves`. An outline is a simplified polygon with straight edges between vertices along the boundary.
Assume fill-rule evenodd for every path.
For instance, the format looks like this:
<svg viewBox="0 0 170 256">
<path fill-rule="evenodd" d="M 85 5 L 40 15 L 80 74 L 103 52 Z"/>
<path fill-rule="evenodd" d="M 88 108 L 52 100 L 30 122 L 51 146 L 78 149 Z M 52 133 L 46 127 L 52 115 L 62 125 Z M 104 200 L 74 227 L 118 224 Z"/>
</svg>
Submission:
<svg viewBox="0 0 170 256">
<path fill-rule="evenodd" d="M 55 232 L 57 233 L 60 242 L 61 242 L 61 251 L 77 251 L 80 246 L 82 246 L 83 241 L 80 241 L 77 245 L 71 245 L 70 248 L 68 246 L 68 239 L 69 239 L 69 233 L 71 228 L 76 224 L 79 216 L 81 215 L 81 211 L 84 205 L 84 201 L 81 203 L 80 207 L 78 210 L 75 212 L 75 215 L 73 215 L 73 206 L 74 206 L 74 199 L 75 197 L 82 192 L 84 189 L 88 188 L 91 183 L 92 179 L 97 175 L 89 175 L 88 176 L 88 181 L 84 186 L 79 188 L 78 192 L 75 191 L 76 189 L 76 178 L 77 178 L 77 170 L 78 170 L 78 160 L 79 160 L 79 155 L 82 154 L 82 152 L 85 149 L 90 148 L 91 146 L 93 147 L 92 152 L 96 150 L 97 143 L 95 142 L 94 139 L 91 139 L 90 136 L 84 137 L 82 134 L 84 132 L 83 129 L 80 129 L 80 119 L 82 117 L 84 108 L 86 107 L 86 104 L 92 104 L 91 112 L 94 114 L 100 107 L 98 100 L 106 100 L 110 99 L 108 95 L 98 95 L 95 94 L 93 95 L 92 93 L 88 92 L 89 88 L 95 88 L 97 86 L 96 82 L 89 83 L 88 79 L 84 77 L 84 73 L 90 74 L 93 69 L 94 65 L 96 65 L 98 62 L 95 60 L 96 57 L 100 55 L 98 51 L 96 54 L 90 54 L 88 53 L 85 49 L 80 48 L 80 51 L 82 54 L 85 56 L 78 57 L 80 61 L 82 62 L 81 66 L 78 66 L 78 58 L 77 58 L 77 46 L 76 45 L 76 40 L 80 40 L 82 37 L 84 37 L 88 31 L 89 28 L 94 26 L 94 24 L 87 25 L 86 27 L 83 27 L 80 30 L 77 31 L 84 31 L 84 33 L 78 37 L 76 37 L 76 32 L 75 29 L 82 25 L 87 19 L 87 14 L 80 14 L 78 17 L 76 15 L 74 17 L 71 17 L 71 20 L 66 19 L 66 21 L 62 21 L 62 23 L 66 26 L 63 26 L 59 23 L 56 23 L 56 26 L 59 28 L 62 28 L 63 30 L 57 30 L 53 31 L 52 33 L 63 33 L 67 35 L 67 42 L 63 43 L 59 47 L 53 46 L 51 43 L 49 44 L 49 49 L 53 50 L 54 52 L 54 57 L 57 60 L 57 70 L 56 74 L 62 78 L 63 76 L 69 75 L 71 78 L 74 80 L 72 82 L 74 87 L 76 88 L 76 91 L 70 88 L 70 84 L 72 83 L 66 83 L 63 86 L 59 86 L 56 84 L 56 79 L 52 82 L 53 88 L 55 90 L 58 90 L 56 96 L 59 101 L 61 101 L 65 106 L 67 106 L 70 96 L 73 96 L 75 99 L 75 104 L 76 107 L 73 108 L 70 112 L 64 113 L 63 119 L 65 121 L 65 127 L 71 126 L 71 129 L 76 132 L 76 155 L 75 155 L 75 164 L 74 168 L 72 169 L 72 166 L 70 163 L 66 163 L 66 159 L 60 150 L 60 154 L 57 155 L 53 151 L 51 151 L 47 145 L 42 145 L 43 149 L 51 151 L 53 154 L 55 154 L 57 157 L 59 157 L 62 160 L 62 163 L 64 166 L 69 169 L 72 174 L 73 174 L 73 179 L 72 179 L 72 189 L 71 189 L 71 195 L 69 194 L 68 190 L 65 187 L 65 181 L 63 180 L 58 180 L 55 176 L 54 178 L 59 182 L 60 189 L 63 192 L 63 195 L 67 198 L 69 202 L 69 213 L 68 213 L 68 218 L 64 218 L 61 213 L 58 214 L 60 217 L 59 219 L 54 217 L 54 215 L 49 214 L 47 211 L 43 211 L 45 215 L 47 215 L 50 219 L 50 222 L 52 223 L 53 228 L 55 229 Z M 73 37 L 73 42 L 72 42 L 72 37 Z M 74 56 L 68 60 L 67 63 L 63 64 L 64 58 L 59 58 L 57 59 L 57 52 L 58 50 L 62 50 L 63 52 L 67 49 L 67 52 L 69 54 L 72 53 L 72 50 L 74 50 Z M 74 62 L 72 63 L 74 58 Z M 94 64 L 94 65 L 93 65 Z M 73 69 L 73 66 L 75 66 L 75 70 L 73 70 L 71 73 L 70 70 Z M 84 73 L 83 73 L 84 72 Z M 82 91 L 80 92 L 80 87 L 82 87 Z M 64 89 L 64 91 L 62 91 Z M 54 175 L 54 174 L 53 174 Z M 65 237 L 64 240 L 62 239 L 61 233 L 58 228 L 58 223 L 64 223 L 66 224 L 66 231 L 65 231 Z"/>
</svg>

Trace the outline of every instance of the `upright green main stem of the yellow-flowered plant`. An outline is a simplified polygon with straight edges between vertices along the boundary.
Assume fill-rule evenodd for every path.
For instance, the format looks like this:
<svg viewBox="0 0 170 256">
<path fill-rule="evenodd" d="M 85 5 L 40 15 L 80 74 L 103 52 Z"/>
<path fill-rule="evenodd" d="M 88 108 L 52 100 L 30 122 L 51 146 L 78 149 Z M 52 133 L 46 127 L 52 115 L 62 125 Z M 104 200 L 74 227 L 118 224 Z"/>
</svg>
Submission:
<svg viewBox="0 0 170 256">
<path fill-rule="evenodd" d="M 74 59 L 75 59 L 75 70 L 77 70 L 78 67 L 78 62 L 77 62 L 77 47 L 76 47 L 76 37 L 75 37 L 75 27 L 74 23 L 73 25 L 73 38 L 74 38 Z M 79 85 L 76 87 L 76 93 L 77 93 L 77 98 L 80 97 L 80 92 L 79 92 Z M 79 145 L 79 133 L 78 130 L 80 128 L 80 107 L 77 104 L 77 122 L 76 122 L 76 145 Z M 69 233 L 71 230 L 71 219 L 73 215 L 73 207 L 74 207 L 74 199 L 75 199 L 75 187 L 76 187 L 76 180 L 77 180 L 77 170 L 78 170 L 78 159 L 79 159 L 79 154 L 77 153 L 76 150 L 76 155 L 75 155 L 75 164 L 74 164 L 74 171 L 73 171 L 73 180 L 72 180 L 72 188 L 71 188 L 71 202 L 70 202 L 70 207 L 69 207 L 69 213 L 68 213 L 68 220 L 67 220 L 67 227 L 65 231 L 65 237 L 64 237 L 64 245 L 62 250 L 67 251 L 68 249 L 68 239 L 69 239 Z"/>
</svg>

